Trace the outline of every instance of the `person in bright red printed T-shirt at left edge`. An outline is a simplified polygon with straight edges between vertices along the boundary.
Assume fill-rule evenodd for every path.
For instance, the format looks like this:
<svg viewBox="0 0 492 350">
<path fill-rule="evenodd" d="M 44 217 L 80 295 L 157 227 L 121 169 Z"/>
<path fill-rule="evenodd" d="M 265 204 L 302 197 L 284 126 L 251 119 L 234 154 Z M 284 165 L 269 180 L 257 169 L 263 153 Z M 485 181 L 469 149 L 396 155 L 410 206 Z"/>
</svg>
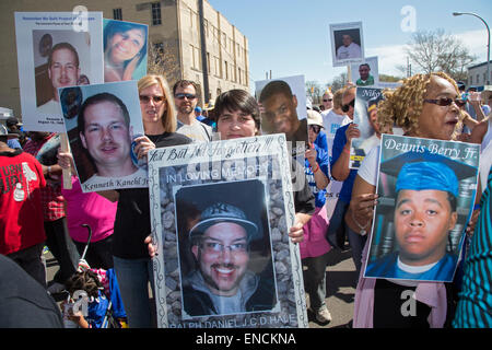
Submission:
<svg viewBox="0 0 492 350">
<path fill-rule="evenodd" d="M 45 242 L 40 189 L 46 186 L 36 159 L 7 145 L 7 128 L 0 125 L 0 254 L 20 265 L 46 288 L 42 261 Z"/>
</svg>

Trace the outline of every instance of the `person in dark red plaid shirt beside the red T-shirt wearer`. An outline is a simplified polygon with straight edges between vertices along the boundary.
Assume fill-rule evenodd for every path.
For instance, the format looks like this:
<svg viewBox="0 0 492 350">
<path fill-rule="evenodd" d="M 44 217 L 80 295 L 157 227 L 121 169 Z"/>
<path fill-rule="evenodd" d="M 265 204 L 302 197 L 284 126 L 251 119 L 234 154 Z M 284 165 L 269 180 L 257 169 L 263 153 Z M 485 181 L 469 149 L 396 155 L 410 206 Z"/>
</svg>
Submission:
<svg viewBox="0 0 492 350">
<path fill-rule="evenodd" d="M 30 137 L 31 140 L 25 143 L 24 151 L 40 160 L 47 182 L 47 186 L 40 190 L 40 197 L 46 245 L 60 266 L 54 277 L 54 283 L 48 287 L 48 291 L 55 293 L 65 289 L 65 281 L 75 272 L 79 253 L 67 228 L 66 202 L 61 196 L 61 167 L 57 164 L 59 141 L 55 139 L 56 133 L 50 132 L 30 132 Z"/>
</svg>

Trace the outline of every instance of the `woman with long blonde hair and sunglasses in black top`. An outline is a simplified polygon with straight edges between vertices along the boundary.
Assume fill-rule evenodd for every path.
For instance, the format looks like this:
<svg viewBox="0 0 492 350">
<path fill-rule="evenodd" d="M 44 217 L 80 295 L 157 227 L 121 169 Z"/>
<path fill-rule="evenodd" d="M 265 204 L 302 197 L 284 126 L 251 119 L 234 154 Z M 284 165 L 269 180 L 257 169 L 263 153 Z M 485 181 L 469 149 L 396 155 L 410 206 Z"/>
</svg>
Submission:
<svg viewBox="0 0 492 350">
<path fill-rule="evenodd" d="M 191 143 L 176 133 L 174 100 L 166 80 L 149 74 L 138 82 L 140 109 L 145 135 L 134 139 L 134 153 L 145 160 L 150 150 Z M 59 153 L 59 164 L 70 166 L 70 153 Z M 130 328 L 150 328 L 154 306 L 149 299 L 153 288 L 152 260 L 144 240 L 151 234 L 149 188 L 131 188 L 98 192 L 118 201 L 113 234 L 113 261 Z"/>
</svg>

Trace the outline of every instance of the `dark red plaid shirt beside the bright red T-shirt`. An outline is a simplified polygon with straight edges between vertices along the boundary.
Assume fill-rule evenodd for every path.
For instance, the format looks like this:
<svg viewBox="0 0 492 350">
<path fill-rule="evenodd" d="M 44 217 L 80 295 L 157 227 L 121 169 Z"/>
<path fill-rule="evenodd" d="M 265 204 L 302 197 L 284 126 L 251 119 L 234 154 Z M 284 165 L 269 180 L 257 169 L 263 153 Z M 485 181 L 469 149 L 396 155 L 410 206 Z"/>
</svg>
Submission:
<svg viewBox="0 0 492 350">
<path fill-rule="evenodd" d="M 36 156 L 43 144 L 45 144 L 54 136 L 56 136 L 56 133 L 52 132 L 40 141 L 35 141 L 33 139 L 28 140 L 24 144 L 24 151 Z M 46 187 L 40 189 L 40 195 L 45 221 L 55 221 L 65 218 L 65 198 L 61 196 L 60 180 L 47 182 Z"/>
</svg>

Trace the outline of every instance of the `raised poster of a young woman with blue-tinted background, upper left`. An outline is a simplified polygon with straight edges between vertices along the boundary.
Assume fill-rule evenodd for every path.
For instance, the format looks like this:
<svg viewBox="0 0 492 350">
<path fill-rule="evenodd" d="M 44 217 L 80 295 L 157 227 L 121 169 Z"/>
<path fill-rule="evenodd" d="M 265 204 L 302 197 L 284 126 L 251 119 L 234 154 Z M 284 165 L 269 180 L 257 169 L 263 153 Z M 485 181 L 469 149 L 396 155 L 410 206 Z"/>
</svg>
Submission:
<svg viewBox="0 0 492 350">
<path fill-rule="evenodd" d="M 148 32 L 145 24 L 104 19 L 104 82 L 147 74 Z"/>
</svg>

